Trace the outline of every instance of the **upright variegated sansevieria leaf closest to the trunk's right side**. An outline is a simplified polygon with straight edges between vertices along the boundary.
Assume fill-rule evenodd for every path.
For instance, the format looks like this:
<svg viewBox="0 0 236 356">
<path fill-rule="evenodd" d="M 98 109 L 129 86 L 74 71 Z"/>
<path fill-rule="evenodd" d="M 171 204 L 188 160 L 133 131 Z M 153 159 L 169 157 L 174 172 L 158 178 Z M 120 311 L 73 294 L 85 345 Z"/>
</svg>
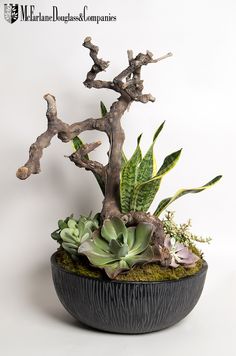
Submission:
<svg viewBox="0 0 236 356">
<path fill-rule="evenodd" d="M 137 180 L 137 168 L 142 160 L 142 152 L 140 149 L 140 135 L 137 139 L 137 147 L 133 156 L 126 162 L 120 177 L 120 203 L 123 213 L 130 211 L 130 204 L 132 201 L 133 190 Z"/>
</svg>

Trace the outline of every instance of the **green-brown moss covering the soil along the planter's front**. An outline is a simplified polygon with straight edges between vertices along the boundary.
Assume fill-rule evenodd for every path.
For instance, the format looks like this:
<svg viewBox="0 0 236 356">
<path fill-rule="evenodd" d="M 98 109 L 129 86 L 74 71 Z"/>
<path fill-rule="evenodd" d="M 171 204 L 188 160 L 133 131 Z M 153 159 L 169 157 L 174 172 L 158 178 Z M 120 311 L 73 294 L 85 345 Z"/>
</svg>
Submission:
<svg viewBox="0 0 236 356">
<path fill-rule="evenodd" d="M 201 253 L 194 247 L 194 253 L 199 257 Z M 56 256 L 57 263 L 66 271 L 74 272 L 78 275 L 93 277 L 93 278 L 108 278 L 103 270 L 92 267 L 88 260 L 80 257 L 78 261 L 73 261 L 71 257 L 64 250 L 60 250 Z M 179 266 L 177 268 L 162 267 L 156 263 L 149 263 L 145 265 L 136 265 L 130 271 L 121 273 L 116 277 L 118 281 L 163 281 L 176 280 L 183 277 L 191 276 L 197 273 L 202 268 L 203 260 L 200 258 L 195 267 L 184 268 Z"/>
</svg>

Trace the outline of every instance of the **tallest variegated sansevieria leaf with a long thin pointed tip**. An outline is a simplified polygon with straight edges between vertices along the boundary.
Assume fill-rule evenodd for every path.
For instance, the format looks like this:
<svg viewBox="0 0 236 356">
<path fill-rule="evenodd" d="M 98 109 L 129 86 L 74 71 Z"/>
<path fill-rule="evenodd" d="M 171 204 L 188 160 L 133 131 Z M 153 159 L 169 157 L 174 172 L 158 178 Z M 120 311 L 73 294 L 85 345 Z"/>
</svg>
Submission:
<svg viewBox="0 0 236 356">
<path fill-rule="evenodd" d="M 158 127 L 157 131 L 153 136 L 153 142 L 139 165 L 137 178 L 137 181 L 139 183 L 148 181 L 156 174 L 156 161 L 153 154 L 153 148 L 159 133 L 163 129 L 164 124 L 165 121 Z"/>
</svg>

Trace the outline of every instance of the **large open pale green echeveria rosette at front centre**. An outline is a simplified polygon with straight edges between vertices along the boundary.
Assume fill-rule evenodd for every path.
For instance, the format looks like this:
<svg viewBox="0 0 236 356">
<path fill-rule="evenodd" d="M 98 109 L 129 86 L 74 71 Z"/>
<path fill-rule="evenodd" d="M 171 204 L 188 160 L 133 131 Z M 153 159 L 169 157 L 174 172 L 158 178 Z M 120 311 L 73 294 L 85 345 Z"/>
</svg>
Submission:
<svg viewBox="0 0 236 356">
<path fill-rule="evenodd" d="M 92 238 L 86 239 L 78 252 L 86 255 L 93 266 L 104 269 L 109 278 L 115 278 L 135 264 L 153 259 L 152 231 L 151 224 L 139 223 L 127 228 L 121 219 L 113 217 L 106 219 L 101 233 L 96 231 Z"/>
</svg>

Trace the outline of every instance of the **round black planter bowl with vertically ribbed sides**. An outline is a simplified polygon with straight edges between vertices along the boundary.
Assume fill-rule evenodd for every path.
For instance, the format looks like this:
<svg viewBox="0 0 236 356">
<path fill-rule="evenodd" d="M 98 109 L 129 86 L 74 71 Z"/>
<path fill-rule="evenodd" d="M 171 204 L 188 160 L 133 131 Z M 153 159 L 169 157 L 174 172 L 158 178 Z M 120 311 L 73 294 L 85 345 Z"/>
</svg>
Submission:
<svg viewBox="0 0 236 356">
<path fill-rule="evenodd" d="M 207 263 L 193 276 L 173 281 L 99 280 L 67 272 L 51 257 L 57 295 L 66 310 L 93 328 L 139 334 L 167 328 L 188 315 L 205 282 Z"/>
</svg>

